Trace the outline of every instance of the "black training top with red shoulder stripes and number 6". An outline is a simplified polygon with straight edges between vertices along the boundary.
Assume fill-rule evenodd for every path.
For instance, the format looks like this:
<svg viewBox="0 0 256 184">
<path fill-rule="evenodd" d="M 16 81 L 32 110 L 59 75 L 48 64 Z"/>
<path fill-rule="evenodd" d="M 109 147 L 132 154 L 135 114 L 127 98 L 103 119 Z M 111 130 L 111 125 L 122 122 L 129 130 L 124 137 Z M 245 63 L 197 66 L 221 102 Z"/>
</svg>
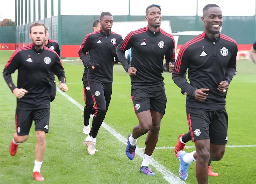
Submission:
<svg viewBox="0 0 256 184">
<path fill-rule="evenodd" d="M 127 34 L 116 49 L 117 57 L 127 72 L 130 67 L 124 52 L 132 47 L 131 67 L 137 69 L 131 77 L 132 88 L 157 87 L 164 85 L 163 59 L 167 68 L 169 62 L 175 62 L 175 42 L 171 34 L 160 29 L 152 32 L 147 27 Z"/>
</svg>

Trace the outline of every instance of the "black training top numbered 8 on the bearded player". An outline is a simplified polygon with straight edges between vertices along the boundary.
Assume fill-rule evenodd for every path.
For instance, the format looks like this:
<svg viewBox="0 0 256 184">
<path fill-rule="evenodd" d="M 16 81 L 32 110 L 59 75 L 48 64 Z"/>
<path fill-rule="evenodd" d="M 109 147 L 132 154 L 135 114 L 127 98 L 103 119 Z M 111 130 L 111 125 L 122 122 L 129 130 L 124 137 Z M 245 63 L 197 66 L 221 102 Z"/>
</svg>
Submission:
<svg viewBox="0 0 256 184">
<path fill-rule="evenodd" d="M 11 77 L 16 69 L 18 69 L 17 87 Z M 37 51 L 31 43 L 12 54 L 3 71 L 4 80 L 11 91 L 15 88 L 28 91 L 21 99 L 17 98 L 17 109 L 50 108 L 51 71 L 58 76 L 59 81 L 65 83 L 65 73 L 60 57 L 48 47 Z"/>
</svg>

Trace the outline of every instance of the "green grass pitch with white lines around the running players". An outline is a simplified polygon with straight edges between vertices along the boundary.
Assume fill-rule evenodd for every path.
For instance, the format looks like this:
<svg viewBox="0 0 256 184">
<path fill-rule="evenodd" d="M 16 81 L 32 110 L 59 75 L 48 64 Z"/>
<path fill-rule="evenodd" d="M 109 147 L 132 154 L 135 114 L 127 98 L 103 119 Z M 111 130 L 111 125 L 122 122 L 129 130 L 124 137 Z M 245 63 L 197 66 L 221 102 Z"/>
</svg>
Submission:
<svg viewBox="0 0 256 184">
<path fill-rule="evenodd" d="M 0 69 L 4 69 L 13 51 L 0 51 Z M 114 82 L 111 103 L 104 123 L 97 136 L 95 155 L 88 155 L 83 145 L 82 133 L 84 106 L 82 62 L 63 62 L 68 92 L 57 92 L 51 103 L 49 134 L 46 135 L 46 151 L 41 168 L 47 184 L 125 184 L 172 183 L 197 184 L 195 163 L 189 166 L 188 179 L 178 177 L 179 161 L 174 155 L 178 135 L 188 131 L 185 96 L 164 72 L 167 95 L 166 113 L 161 123 L 159 140 L 150 166 L 155 176 L 139 172 L 144 152 L 145 137 L 137 142 L 136 156 L 129 160 L 125 143 L 134 125 L 138 123 L 130 99 L 130 79 L 120 64 L 114 65 Z M 218 177 L 209 176 L 209 184 L 256 183 L 256 65 L 252 61 L 237 61 L 238 74 L 233 78 L 227 94 L 228 144 L 222 160 L 212 162 L 212 170 Z M 17 71 L 12 75 L 16 84 Z M 0 78 L 0 183 L 38 183 L 32 177 L 34 165 L 35 131 L 32 126 L 29 138 L 19 145 L 17 154 L 9 154 L 9 145 L 15 132 L 16 98 Z M 185 151 L 194 151 L 194 143 L 188 142 Z"/>
</svg>

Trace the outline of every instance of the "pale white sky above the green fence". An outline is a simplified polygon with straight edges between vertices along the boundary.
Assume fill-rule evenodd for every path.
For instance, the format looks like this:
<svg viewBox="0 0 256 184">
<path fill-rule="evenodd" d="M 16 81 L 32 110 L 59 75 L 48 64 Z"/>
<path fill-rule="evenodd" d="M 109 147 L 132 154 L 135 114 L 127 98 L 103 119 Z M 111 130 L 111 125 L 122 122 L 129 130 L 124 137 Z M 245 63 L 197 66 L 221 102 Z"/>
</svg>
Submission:
<svg viewBox="0 0 256 184">
<path fill-rule="evenodd" d="M 102 3 L 99 3 L 102 1 Z M 27 1 L 28 2 L 28 1 Z M 72 3 L 70 3 L 72 2 Z M 89 3 L 88 3 L 89 2 Z M 128 15 L 129 0 L 86 1 L 86 0 L 62 0 L 62 15 L 100 15 L 102 11 L 109 11 L 112 15 Z M 255 0 L 243 0 L 236 3 L 233 0 L 130 0 L 131 15 L 145 15 L 145 10 L 150 4 L 159 4 L 162 15 L 196 15 L 196 3 L 198 2 L 198 15 L 202 15 L 202 9 L 206 4 L 214 3 L 220 6 L 224 16 L 253 16 L 255 15 Z M 21 4 L 21 3 L 20 3 Z M 25 5 L 25 1 L 23 0 Z M 100 5 L 100 6 L 99 6 Z M 31 0 L 33 7 L 33 0 Z M 38 7 L 38 1 L 36 1 Z M 47 18 L 51 16 L 51 0 L 47 0 Z M 58 14 L 58 0 L 54 0 L 54 16 Z M 33 11 L 33 10 L 32 10 Z M 25 13 L 25 8 L 23 10 Z M 33 16 L 33 12 L 31 12 Z M 15 20 L 15 0 L 0 0 L 0 18 Z M 41 19 L 44 18 L 44 0 L 41 0 Z M 38 13 L 36 13 L 38 20 Z M 24 21 L 25 22 L 25 21 Z"/>
</svg>

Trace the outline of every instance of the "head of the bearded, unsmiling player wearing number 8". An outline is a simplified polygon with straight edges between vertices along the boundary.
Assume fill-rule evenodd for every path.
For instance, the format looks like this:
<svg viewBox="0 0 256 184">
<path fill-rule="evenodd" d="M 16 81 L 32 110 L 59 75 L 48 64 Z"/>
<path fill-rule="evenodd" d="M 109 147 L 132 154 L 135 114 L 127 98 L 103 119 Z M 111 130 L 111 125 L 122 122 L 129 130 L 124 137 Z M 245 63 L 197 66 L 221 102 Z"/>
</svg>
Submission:
<svg viewBox="0 0 256 184">
<path fill-rule="evenodd" d="M 32 43 L 35 48 L 38 50 L 44 47 L 45 41 L 45 28 L 44 26 L 33 26 L 31 27 L 31 33 L 29 37 L 32 40 Z"/>
</svg>

